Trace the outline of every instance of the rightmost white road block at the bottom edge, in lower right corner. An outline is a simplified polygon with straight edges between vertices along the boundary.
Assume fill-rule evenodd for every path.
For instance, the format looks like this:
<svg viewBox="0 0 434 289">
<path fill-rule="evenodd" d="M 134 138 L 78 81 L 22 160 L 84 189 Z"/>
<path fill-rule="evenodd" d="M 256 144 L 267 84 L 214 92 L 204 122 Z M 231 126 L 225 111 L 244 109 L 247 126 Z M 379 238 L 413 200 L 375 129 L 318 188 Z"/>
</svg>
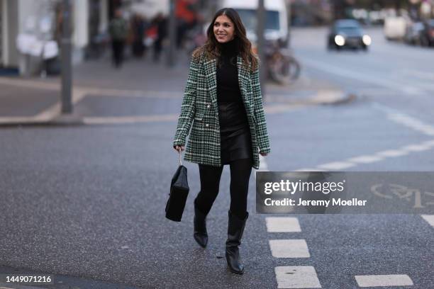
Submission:
<svg viewBox="0 0 434 289">
<path fill-rule="evenodd" d="M 413 280 L 408 275 L 362 275 L 355 276 L 359 287 L 411 286 Z"/>
</svg>

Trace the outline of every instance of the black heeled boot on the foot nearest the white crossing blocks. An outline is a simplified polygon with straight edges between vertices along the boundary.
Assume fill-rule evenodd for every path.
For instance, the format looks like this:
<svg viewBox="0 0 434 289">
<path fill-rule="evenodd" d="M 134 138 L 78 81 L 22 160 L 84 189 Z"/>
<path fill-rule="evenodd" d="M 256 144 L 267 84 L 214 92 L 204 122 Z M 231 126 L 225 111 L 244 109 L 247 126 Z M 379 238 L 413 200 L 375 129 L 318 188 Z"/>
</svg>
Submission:
<svg viewBox="0 0 434 289">
<path fill-rule="evenodd" d="M 240 252 L 238 246 L 241 244 L 243 237 L 245 221 L 249 217 L 247 212 L 244 220 L 240 219 L 237 215 L 228 212 L 228 239 L 226 240 L 226 261 L 228 262 L 229 269 L 232 273 L 243 274 L 244 266 L 240 264 Z"/>
</svg>

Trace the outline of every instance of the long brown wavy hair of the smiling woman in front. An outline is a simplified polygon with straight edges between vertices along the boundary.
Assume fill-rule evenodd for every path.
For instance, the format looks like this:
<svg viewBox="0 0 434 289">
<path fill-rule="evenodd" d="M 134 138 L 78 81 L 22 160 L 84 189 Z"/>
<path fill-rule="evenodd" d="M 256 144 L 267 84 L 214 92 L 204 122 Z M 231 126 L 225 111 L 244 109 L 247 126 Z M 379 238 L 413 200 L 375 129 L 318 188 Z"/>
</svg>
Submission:
<svg viewBox="0 0 434 289">
<path fill-rule="evenodd" d="M 244 60 L 244 64 L 247 67 L 250 63 L 250 70 L 255 71 L 259 64 L 259 58 L 252 52 L 252 43 L 247 39 L 245 33 L 245 27 L 243 21 L 241 21 L 240 15 L 233 8 L 222 8 L 216 12 L 213 17 L 213 21 L 208 26 L 206 30 L 206 42 L 203 46 L 197 48 L 193 52 L 193 59 L 199 60 L 202 55 L 206 57 L 207 60 L 218 59 L 221 56 L 221 52 L 218 49 L 218 41 L 214 35 L 214 22 L 216 18 L 221 15 L 226 15 L 230 21 L 232 21 L 235 31 L 235 38 L 238 38 L 238 51 L 241 58 Z"/>
</svg>

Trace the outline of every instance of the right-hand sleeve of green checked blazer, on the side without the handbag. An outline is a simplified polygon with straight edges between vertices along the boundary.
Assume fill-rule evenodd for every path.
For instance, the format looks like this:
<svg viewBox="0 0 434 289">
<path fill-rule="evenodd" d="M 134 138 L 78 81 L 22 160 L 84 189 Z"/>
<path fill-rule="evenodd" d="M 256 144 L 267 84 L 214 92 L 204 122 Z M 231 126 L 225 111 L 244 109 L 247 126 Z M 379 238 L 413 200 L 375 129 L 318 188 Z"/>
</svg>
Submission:
<svg viewBox="0 0 434 289">
<path fill-rule="evenodd" d="M 256 119 L 257 145 L 260 152 L 271 152 L 267 132 L 267 121 L 265 120 L 264 108 L 262 106 L 262 94 L 260 85 L 259 64 L 255 72 L 252 72 L 252 92 L 254 102 L 254 114 Z"/>
</svg>

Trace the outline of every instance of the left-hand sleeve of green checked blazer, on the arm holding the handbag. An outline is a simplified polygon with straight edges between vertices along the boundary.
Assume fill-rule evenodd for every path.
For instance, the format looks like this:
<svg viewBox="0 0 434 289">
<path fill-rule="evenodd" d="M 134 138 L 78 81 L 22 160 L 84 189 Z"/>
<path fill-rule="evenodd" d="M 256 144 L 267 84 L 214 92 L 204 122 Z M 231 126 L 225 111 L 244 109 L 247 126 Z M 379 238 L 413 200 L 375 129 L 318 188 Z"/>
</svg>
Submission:
<svg viewBox="0 0 434 289">
<path fill-rule="evenodd" d="M 189 77 L 185 86 L 184 98 L 182 99 L 181 113 L 178 118 L 177 130 L 174 135 L 173 147 L 176 145 L 185 146 L 185 139 L 189 134 L 191 123 L 196 111 L 196 92 L 199 63 L 191 60 Z"/>
</svg>

